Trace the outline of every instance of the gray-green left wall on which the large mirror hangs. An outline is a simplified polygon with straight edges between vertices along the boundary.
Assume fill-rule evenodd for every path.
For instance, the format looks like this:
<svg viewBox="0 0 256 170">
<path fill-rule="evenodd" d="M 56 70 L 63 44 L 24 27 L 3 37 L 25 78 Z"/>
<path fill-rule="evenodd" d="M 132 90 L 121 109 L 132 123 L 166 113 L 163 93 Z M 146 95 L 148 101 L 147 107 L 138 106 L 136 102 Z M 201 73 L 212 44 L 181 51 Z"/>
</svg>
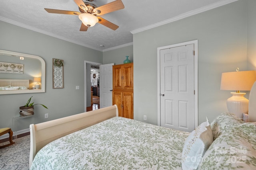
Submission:
<svg viewBox="0 0 256 170">
<path fill-rule="evenodd" d="M 0 127 L 12 127 L 19 107 L 32 101 L 34 123 L 84 112 L 84 61 L 102 63 L 102 52 L 0 21 L 0 49 L 42 57 L 46 63 L 46 93 L 0 95 Z M 52 88 L 52 58 L 64 60 L 64 88 Z M 76 86 L 80 86 L 76 90 Z M 44 119 L 44 114 L 49 118 Z M 18 121 L 18 130 L 28 129 L 32 118 Z"/>
</svg>

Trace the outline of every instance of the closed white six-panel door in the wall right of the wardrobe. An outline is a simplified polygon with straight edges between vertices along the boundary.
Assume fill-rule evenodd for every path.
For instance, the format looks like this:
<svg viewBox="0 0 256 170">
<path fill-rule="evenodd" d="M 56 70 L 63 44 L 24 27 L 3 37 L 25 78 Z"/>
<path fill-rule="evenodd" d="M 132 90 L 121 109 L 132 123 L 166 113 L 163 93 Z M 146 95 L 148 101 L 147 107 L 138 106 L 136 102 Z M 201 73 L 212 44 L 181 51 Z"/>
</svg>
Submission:
<svg viewBox="0 0 256 170">
<path fill-rule="evenodd" d="M 160 125 L 193 131 L 194 44 L 160 50 Z"/>
</svg>

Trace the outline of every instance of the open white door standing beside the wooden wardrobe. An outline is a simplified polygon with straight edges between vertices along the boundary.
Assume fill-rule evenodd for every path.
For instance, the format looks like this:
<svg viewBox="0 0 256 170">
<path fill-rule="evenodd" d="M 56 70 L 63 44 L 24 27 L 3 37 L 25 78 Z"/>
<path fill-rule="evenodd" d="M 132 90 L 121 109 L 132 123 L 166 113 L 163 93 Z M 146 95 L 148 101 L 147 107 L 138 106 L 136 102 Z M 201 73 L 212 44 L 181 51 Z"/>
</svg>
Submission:
<svg viewBox="0 0 256 170">
<path fill-rule="evenodd" d="M 114 63 L 100 65 L 100 108 L 112 106 L 113 65 Z"/>
</svg>

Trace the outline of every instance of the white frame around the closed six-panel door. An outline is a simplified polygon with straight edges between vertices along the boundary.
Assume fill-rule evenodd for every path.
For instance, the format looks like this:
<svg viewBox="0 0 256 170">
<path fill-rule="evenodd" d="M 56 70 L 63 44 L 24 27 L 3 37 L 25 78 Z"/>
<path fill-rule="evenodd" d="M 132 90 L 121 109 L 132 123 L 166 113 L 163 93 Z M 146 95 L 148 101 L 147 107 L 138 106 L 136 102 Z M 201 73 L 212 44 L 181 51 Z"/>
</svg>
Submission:
<svg viewBox="0 0 256 170">
<path fill-rule="evenodd" d="M 194 44 L 194 125 L 198 127 L 198 40 L 167 45 L 157 48 L 157 125 L 161 125 L 161 106 L 160 106 L 160 50 Z"/>
</svg>

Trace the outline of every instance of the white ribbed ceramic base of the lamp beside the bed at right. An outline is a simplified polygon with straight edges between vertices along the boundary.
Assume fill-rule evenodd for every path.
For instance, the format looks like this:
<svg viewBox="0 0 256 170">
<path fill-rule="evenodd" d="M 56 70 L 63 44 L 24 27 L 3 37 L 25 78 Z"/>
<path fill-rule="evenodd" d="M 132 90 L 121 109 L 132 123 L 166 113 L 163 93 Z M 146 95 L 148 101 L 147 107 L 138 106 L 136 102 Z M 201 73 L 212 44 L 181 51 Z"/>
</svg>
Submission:
<svg viewBox="0 0 256 170">
<path fill-rule="evenodd" d="M 243 113 L 248 113 L 249 100 L 244 97 L 246 93 L 234 93 L 228 98 L 227 107 L 230 113 L 234 113 L 238 118 L 243 119 Z"/>
</svg>

